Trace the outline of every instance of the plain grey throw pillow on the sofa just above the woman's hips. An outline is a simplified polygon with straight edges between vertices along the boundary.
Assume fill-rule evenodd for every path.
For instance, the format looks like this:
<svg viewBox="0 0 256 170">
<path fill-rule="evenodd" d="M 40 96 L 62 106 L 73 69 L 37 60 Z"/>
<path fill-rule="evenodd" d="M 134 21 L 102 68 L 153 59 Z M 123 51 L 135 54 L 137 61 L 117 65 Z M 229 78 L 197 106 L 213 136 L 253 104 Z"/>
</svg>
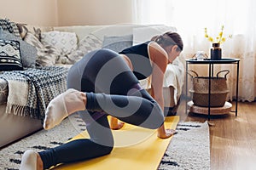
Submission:
<svg viewBox="0 0 256 170">
<path fill-rule="evenodd" d="M 105 36 L 103 39 L 102 48 L 111 49 L 117 53 L 125 48 L 132 46 L 132 35 L 125 36 Z"/>
</svg>

